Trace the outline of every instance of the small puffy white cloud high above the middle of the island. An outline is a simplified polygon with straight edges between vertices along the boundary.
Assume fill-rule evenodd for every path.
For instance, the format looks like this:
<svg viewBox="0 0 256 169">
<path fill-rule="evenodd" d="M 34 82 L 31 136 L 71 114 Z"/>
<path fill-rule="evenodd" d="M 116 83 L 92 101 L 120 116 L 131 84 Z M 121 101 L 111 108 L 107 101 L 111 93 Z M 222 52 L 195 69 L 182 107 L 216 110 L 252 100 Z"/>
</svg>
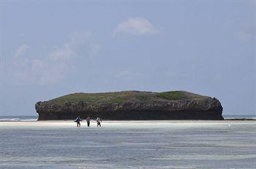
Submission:
<svg viewBox="0 0 256 169">
<path fill-rule="evenodd" d="M 144 35 L 144 34 L 157 34 L 156 28 L 145 18 L 142 17 L 129 17 L 127 20 L 119 23 L 115 28 L 113 34 L 134 34 L 134 35 Z"/>
</svg>

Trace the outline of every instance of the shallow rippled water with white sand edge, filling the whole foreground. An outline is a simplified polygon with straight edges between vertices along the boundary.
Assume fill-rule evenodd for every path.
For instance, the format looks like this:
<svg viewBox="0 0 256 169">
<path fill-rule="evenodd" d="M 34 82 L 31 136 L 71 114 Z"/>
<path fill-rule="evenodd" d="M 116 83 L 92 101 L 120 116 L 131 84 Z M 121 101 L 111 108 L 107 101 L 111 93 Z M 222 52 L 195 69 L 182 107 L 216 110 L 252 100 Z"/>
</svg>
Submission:
<svg viewBox="0 0 256 169">
<path fill-rule="evenodd" d="M 0 122 L 1 168 L 255 168 L 255 121 Z"/>
</svg>

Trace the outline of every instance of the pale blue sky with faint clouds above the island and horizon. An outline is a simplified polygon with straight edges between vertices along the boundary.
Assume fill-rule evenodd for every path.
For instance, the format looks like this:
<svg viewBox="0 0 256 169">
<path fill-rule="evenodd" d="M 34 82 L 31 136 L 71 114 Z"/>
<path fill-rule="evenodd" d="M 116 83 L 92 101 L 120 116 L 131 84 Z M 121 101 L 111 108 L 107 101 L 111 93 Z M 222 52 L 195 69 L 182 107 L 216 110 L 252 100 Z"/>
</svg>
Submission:
<svg viewBox="0 0 256 169">
<path fill-rule="evenodd" d="M 121 90 L 186 90 L 255 114 L 254 0 L 0 3 L 0 115 Z"/>
</svg>

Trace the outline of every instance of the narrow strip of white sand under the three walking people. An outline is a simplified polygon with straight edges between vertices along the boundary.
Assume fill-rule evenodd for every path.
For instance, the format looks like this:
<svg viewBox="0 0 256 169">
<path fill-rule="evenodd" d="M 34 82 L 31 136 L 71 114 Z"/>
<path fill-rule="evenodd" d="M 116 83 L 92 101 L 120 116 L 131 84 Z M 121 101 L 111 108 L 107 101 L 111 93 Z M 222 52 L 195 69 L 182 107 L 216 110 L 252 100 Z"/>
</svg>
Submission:
<svg viewBox="0 0 256 169">
<path fill-rule="evenodd" d="M 103 121 L 102 127 L 107 128 L 191 128 L 191 127 L 234 127 L 238 125 L 256 125 L 255 120 L 167 120 L 167 121 Z M 44 129 L 44 128 L 73 128 L 76 123 L 72 120 L 47 120 L 37 122 L 0 122 L 2 129 Z M 87 127 L 86 122 L 81 122 L 81 127 Z M 97 127 L 97 122 L 91 121 L 90 127 Z"/>
</svg>

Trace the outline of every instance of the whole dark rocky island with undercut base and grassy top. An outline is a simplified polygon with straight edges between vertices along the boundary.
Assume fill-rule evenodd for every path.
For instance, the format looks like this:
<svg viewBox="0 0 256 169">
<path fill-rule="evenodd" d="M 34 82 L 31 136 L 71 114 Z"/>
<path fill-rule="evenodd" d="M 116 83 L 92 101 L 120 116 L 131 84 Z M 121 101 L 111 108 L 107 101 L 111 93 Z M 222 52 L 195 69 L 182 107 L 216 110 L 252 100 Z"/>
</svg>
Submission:
<svg viewBox="0 0 256 169">
<path fill-rule="evenodd" d="M 75 119 L 78 116 L 116 120 L 224 119 L 217 98 L 184 91 L 120 93 L 75 93 L 39 101 L 35 109 L 39 120 Z"/>
</svg>

